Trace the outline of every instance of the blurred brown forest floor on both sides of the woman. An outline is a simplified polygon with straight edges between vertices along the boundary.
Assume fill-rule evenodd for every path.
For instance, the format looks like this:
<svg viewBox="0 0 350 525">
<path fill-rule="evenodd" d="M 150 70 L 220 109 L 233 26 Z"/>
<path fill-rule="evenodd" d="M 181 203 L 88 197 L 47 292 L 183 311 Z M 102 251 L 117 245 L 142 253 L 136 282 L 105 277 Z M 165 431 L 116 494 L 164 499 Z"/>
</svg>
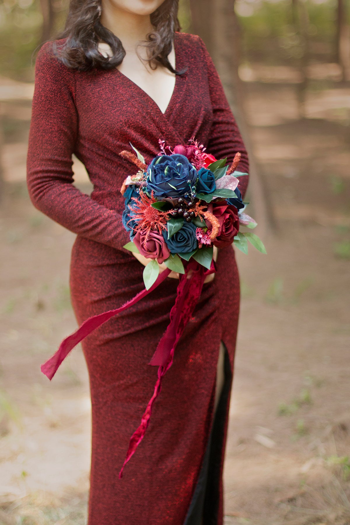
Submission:
<svg viewBox="0 0 350 525">
<path fill-rule="evenodd" d="M 276 227 L 263 237 L 267 256 L 252 247 L 248 256 L 237 253 L 242 299 L 226 525 L 350 524 L 350 86 L 315 81 L 303 119 L 296 87 L 278 71 L 246 82 Z M 39 368 L 76 327 L 68 289 L 75 236 L 30 204 L 30 103 L 4 107 L 0 524 L 83 525 L 86 365 L 78 348 L 51 383 Z M 88 192 L 82 166 L 75 169 Z"/>
</svg>

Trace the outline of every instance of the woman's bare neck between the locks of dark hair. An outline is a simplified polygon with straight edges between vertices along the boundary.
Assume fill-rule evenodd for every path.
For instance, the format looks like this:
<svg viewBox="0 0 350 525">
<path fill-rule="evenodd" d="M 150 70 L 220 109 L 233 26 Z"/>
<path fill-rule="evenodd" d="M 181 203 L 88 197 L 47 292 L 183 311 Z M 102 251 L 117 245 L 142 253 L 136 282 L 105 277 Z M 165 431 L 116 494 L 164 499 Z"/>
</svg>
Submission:
<svg viewBox="0 0 350 525">
<path fill-rule="evenodd" d="M 135 46 L 154 30 L 150 15 L 135 15 L 113 5 L 109 0 L 102 0 L 100 22 L 120 38 L 125 51 L 135 50 Z"/>
</svg>

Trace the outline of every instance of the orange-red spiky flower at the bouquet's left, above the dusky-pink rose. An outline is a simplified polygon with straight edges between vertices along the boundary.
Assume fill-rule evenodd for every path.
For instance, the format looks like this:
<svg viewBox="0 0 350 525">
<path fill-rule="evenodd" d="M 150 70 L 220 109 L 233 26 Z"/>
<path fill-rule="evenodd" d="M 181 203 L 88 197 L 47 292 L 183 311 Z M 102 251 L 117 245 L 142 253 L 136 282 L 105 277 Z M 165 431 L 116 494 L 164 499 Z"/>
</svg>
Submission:
<svg viewBox="0 0 350 525">
<path fill-rule="evenodd" d="M 147 232 L 147 239 L 151 230 L 158 230 L 161 234 L 166 229 L 166 222 L 169 215 L 172 215 L 172 211 L 162 212 L 160 209 L 151 206 L 151 204 L 157 202 L 153 192 L 151 197 L 149 197 L 140 188 L 140 198 L 132 197 L 131 200 L 134 201 L 134 204 L 129 204 L 129 208 L 133 212 L 132 218 L 138 222 L 134 228 L 136 231 L 142 230 Z"/>
</svg>

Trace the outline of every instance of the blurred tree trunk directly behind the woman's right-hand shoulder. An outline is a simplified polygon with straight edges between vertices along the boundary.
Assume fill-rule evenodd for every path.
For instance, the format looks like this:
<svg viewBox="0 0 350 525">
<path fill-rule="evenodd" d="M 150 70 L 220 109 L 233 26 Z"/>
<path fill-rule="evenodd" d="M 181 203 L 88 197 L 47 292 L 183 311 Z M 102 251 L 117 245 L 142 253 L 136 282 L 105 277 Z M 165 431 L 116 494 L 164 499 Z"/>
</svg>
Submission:
<svg viewBox="0 0 350 525">
<path fill-rule="evenodd" d="M 207 0 L 205 0 L 207 3 Z M 199 4 L 199 5 L 198 5 Z M 274 227 L 272 206 L 268 198 L 262 170 L 253 152 L 250 127 L 245 109 L 245 90 L 238 75 L 241 31 L 235 13 L 234 0 L 212 0 L 204 9 L 202 2 L 192 0 L 192 30 L 205 41 L 224 86 L 227 100 L 238 123 L 249 154 L 249 192 L 252 196 L 254 218 L 263 235 Z M 203 24 L 203 25 L 202 25 Z"/>
</svg>

